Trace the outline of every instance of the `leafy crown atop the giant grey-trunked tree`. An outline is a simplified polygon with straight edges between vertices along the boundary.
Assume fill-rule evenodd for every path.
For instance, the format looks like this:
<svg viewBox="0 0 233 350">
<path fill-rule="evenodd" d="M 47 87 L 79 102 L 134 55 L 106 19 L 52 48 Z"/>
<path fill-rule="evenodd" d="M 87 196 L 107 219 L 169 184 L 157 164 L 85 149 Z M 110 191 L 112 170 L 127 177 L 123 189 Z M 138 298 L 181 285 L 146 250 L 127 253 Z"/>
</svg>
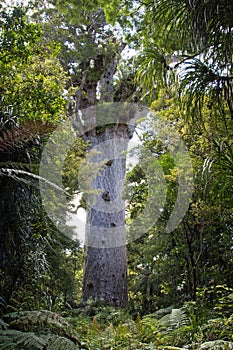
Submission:
<svg viewBox="0 0 233 350">
<path fill-rule="evenodd" d="M 69 113 L 75 116 L 78 109 L 105 98 L 102 78 L 118 59 L 122 42 L 96 1 L 39 1 L 39 5 L 35 2 L 33 17 L 42 24 L 46 40 L 61 46 L 59 59 L 69 75 Z"/>
</svg>

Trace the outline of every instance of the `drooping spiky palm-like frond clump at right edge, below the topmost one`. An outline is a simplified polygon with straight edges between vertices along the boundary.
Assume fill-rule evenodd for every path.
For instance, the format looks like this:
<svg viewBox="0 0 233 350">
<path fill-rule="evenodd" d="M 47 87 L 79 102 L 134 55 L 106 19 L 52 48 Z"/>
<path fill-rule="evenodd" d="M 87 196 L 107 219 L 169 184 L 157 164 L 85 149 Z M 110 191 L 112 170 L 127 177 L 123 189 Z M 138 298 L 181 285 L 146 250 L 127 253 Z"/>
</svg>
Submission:
<svg viewBox="0 0 233 350">
<path fill-rule="evenodd" d="M 205 106 L 211 111 L 217 104 L 218 115 L 227 125 L 227 118 L 233 120 L 233 76 L 207 59 L 193 58 L 184 66 L 180 72 L 180 94 L 189 117 L 198 118 Z"/>
</svg>

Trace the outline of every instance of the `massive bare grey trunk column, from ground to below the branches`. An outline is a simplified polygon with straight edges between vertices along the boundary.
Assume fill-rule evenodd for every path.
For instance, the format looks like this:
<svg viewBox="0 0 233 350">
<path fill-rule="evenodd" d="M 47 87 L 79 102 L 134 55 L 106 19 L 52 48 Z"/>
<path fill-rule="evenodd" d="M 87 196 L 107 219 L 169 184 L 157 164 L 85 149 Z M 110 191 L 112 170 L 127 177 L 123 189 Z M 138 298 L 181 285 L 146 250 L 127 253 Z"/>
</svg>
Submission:
<svg viewBox="0 0 233 350">
<path fill-rule="evenodd" d="M 104 166 L 91 187 L 98 192 L 89 206 L 83 276 L 83 300 L 101 300 L 116 306 L 127 304 L 127 256 L 125 207 L 122 200 L 125 176 L 125 151 L 132 130 L 115 124 L 98 133 L 94 129 L 86 138 L 94 164 Z"/>
</svg>

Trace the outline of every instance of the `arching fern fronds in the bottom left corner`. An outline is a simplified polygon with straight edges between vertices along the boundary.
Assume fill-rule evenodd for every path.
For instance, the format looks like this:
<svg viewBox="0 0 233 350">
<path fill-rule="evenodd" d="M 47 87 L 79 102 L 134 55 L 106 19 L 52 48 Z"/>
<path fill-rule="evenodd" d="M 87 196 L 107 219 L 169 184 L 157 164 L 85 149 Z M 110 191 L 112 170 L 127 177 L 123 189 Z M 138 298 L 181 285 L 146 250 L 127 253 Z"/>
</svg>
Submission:
<svg viewBox="0 0 233 350">
<path fill-rule="evenodd" d="M 50 311 L 28 311 L 4 315 L 9 325 L 0 332 L 6 349 L 77 349 L 80 341 L 67 320 Z"/>
</svg>

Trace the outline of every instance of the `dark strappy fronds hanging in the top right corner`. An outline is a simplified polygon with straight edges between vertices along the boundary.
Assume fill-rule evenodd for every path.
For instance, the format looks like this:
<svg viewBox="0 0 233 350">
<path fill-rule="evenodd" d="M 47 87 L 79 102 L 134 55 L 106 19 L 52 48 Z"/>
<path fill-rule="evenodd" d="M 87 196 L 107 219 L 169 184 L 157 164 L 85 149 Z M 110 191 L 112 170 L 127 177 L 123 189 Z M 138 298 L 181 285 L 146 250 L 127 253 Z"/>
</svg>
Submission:
<svg viewBox="0 0 233 350">
<path fill-rule="evenodd" d="M 225 47 L 222 59 L 229 61 L 232 52 L 232 16 L 231 0 L 159 0 L 147 7 L 149 21 L 158 23 L 159 32 L 170 34 L 177 32 L 183 50 L 188 42 L 193 51 L 205 49 L 209 45 Z M 158 32 L 158 31 L 157 31 Z M 224 61 L 225 61 L 224 59 Z"/>
</svg>

